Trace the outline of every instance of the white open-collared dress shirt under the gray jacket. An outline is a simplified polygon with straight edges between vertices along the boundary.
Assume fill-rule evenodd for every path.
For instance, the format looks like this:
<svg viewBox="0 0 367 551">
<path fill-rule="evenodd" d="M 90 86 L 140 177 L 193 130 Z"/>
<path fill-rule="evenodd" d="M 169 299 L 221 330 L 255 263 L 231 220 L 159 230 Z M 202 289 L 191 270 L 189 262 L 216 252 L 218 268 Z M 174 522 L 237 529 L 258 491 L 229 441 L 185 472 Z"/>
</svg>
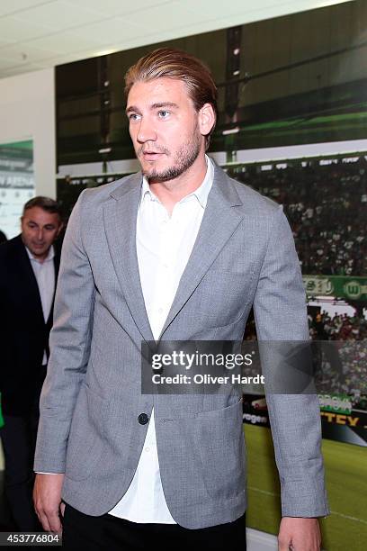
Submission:
<svg viewBox="0 0 367 551">
<path fill-rule="evenodd" d="M 207 157 L 201 186 L 175 204 L 171 217 L 144 178 L 137 218 L 139 275 L 154 338 L 159 338 L 192 252 L 213 182 Z M 139 464 L 128 491 L 110 511 L 133 522 L 175 524 L 168 510 L 159 473 L 154 410 Z"/>
</svg>

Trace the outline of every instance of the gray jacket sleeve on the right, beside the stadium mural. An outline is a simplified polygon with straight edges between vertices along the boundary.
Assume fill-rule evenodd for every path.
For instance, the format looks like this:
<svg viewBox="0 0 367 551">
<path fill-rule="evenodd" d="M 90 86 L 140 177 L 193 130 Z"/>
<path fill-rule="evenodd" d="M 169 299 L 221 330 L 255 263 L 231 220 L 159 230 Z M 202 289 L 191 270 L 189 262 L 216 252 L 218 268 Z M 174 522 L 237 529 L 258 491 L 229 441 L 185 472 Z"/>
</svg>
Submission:
<svg viewBox="0 0 367 551">
<path fill-rule="evenodd" d="M 274 213 L 269 235 L 254 302 L 257 337 L 266 343 L 308 341 L 300 263 L 282 207 Z M 266 402 L 281 481 L 282 516 L 327 515 L 318 396 L 266 393 Z"/>
</svg>

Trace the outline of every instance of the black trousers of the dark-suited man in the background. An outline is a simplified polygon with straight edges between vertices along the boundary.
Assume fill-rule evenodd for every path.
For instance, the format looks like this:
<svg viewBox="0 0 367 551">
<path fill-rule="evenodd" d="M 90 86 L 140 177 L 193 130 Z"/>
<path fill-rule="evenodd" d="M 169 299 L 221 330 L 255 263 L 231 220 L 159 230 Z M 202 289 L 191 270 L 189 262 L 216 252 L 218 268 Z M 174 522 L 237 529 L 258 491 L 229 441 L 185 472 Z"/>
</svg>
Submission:
<svg viewBox="0 0 367 551">
<path fill-rule="evenodd" d="M 5 460 L 4 492 L 15 529 L 19 531 L 43 530 L 32 501 L 40 389 L 41 383 L 25 411 L 4 413 L 4 427 L 0 429 Z"/>
</svg>

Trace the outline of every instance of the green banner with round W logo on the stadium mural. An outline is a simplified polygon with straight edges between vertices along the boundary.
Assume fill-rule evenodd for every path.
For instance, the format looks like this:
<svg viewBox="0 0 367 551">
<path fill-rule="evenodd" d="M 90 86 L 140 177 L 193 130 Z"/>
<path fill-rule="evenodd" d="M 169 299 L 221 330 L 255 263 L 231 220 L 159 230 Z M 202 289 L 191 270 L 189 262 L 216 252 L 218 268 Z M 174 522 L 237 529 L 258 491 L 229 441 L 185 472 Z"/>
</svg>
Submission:
<svg viewBox="0 0 367 551">
<path fill-rule="evenodd" d="M 303 276 L 306 294 L 311 296 L 335 296 L 354 301 L 367 300 L 367 277 Z"/>
</svg>

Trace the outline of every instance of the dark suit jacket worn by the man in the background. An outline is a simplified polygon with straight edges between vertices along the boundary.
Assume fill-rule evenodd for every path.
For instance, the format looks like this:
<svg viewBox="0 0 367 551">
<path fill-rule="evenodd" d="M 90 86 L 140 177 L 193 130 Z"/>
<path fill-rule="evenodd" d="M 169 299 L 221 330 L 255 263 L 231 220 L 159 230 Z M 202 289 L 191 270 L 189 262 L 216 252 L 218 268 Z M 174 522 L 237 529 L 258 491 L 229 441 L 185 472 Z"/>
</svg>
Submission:
<svg viewBox="0 0 367 551">
<path fill-rule="evenodd" d="M 59 253 L 55 247 L 55 282 Z M 0 391 L 4 413 L 30 407 L 44 378 L 43 351 L 49 355 L 49 319 L 43 319 L 40 292 L 21 236 L 0 246 Z"/>
</svg>

